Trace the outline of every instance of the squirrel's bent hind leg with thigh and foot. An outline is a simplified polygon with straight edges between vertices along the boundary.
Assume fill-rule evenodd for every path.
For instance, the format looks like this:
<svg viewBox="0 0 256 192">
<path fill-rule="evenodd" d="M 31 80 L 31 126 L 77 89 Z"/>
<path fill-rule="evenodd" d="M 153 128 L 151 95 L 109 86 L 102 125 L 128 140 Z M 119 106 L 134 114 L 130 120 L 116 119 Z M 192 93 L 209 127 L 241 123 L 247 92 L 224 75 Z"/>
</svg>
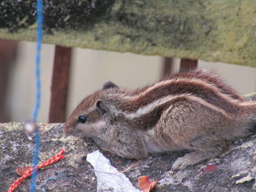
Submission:
<svg viewBox="0 0 256 192">
<path fill-rule="evenodd" d="M 173 169 L 213 158 L 227 146 L 225 135 L 232 121 L 222 109 L 201 100 L 187 97 L 171 104 L 156 129 L 159 141 L 170 150 L 195 150 L 178 158 Z"/>
</svg>

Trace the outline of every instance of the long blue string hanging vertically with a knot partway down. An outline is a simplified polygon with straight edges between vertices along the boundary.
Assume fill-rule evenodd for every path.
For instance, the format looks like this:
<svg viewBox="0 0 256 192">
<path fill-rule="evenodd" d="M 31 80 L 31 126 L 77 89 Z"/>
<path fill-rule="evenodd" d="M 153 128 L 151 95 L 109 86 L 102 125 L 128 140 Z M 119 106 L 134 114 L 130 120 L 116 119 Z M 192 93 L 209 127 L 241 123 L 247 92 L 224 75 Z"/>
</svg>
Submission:
<svg viewBox="0 0 256 192">
<path fill-rule="evenodd" d="M 40 82 L 40 51 L 42 46 L 42 0 L 37 0 L 37 57 L 36 57 L 36 86 L 37 86 L 37 94 L 36 94 L 36 104 L 34 106 L 33 112 L 33 120 L 37 122 L 38 111 L 40 107 L 40 99 L 41 99 L 41 82 Z M 37 129 L 36 138 L 35 138 L 35 147 L 34 147 L 34 155 L 33 155 L 33 166 L 34 170 L 31 175 L 31 186 L 30 191 L 36 191 L 36 180 L 37 180 L 37 167 L 38 164 L 38 155 L 39 155 L 39 146 L 40 146 L 40 133 Z"/>
</svg>

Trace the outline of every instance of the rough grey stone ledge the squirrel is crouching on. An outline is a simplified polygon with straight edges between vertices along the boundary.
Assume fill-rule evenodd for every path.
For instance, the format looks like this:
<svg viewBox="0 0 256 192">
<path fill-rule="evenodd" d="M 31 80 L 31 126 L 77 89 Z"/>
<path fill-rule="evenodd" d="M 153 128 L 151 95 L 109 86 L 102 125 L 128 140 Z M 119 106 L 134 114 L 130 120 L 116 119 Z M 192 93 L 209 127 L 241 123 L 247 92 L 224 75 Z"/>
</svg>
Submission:
<svg viewBox="0 0 256 192">
<path fill-rule="evenodd" d="M 48 183 L 48 192 L 97 191 L 94 170 L 86 161 L 86 155 L 97 149 L 94 142 L 89 139 L 65 137 L 61 123 L 40 123 L 39 126 L 42 131 L 39 163 L 53 157 L 62 148 L 67 152 L 64 159 L 39 171 L 37 191 L 42 191 L 49 177 L 56 177 L 56 180 Z M 1 191 L 7 191 L 18 179 L 15 169 L 31 164 L 33 141 L 33 137 L 23 132 L 23 123 L 0 123 Z M 137 162 L 118 158 L 108 152 L 102 153 L 118 170 L 127 169 Z M 256 191 L 256 135 L 237 139 L 233 147 L 220 158 L 213 158 L 184 171 L 171 172 L 173 161 L 181 155 L 184 155 L 184 152 L 150 156 L 125 174 L 136 188 L 139 176 L 147 175 L 150 180 L 159 180 L 155 192 Z M 216 165 L 216 169 L 208 165 Z M 16 191 L 29 191 L 29 185 L 30 179 L 27 178 Z"/>
</svg>

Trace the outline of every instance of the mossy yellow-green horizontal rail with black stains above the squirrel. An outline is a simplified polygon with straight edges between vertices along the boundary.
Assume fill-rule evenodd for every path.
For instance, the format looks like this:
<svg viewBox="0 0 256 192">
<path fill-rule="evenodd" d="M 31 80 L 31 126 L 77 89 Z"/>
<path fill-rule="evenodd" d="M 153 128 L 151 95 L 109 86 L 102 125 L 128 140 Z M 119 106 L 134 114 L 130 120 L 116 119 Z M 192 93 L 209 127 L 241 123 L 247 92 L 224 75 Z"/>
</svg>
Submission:
<svg viewBox="0 0 256 192">
<path fill-rule="evenodd" d="M 34 41 L 35 0 L 0 2 L 0 37 Z M 255 0 L 44 1 L 43 42 L 256 66 Z"/>
</svg>

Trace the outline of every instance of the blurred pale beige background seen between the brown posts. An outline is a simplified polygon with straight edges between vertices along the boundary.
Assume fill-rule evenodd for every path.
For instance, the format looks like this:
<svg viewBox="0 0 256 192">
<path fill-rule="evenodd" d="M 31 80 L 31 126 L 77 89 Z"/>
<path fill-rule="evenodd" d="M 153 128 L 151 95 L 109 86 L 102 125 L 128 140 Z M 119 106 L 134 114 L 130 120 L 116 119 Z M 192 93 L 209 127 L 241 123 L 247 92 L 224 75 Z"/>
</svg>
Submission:
<svg viewBox="0 0 256 192">
<path fill-rule="evenodd" d="M 18 52 L 13 53 L 16 58 L 10 61 L 8 67 L 4 66 L 0 55 L 0 122 L 31 119 L 36 92 L 35 47 L 34 42 L 18 42 Z M 0 53 L 5 48 L 0 46 Z M 55 45 L 42 45 L 42 100 L 38 118 L 38 122 L 42 123 L 48 123 L 54 49 Z M 159 56 L 72 48 L 67 117 L 85 96 L 101 88 L 106 80 L 125 88 L 141 88 L 160 80 L 163 63 L 164 58 Z M 180 59 L 175 58 L 172 73 L 178 72 L 179 64 Z M 256 91 L 256 69 L 252 67 L 205 61 L 198 61 L 198 67 L 217 71 L 241 94 Z M 7 68 L 7 71 L 3 70 Z"/>
</svg>

